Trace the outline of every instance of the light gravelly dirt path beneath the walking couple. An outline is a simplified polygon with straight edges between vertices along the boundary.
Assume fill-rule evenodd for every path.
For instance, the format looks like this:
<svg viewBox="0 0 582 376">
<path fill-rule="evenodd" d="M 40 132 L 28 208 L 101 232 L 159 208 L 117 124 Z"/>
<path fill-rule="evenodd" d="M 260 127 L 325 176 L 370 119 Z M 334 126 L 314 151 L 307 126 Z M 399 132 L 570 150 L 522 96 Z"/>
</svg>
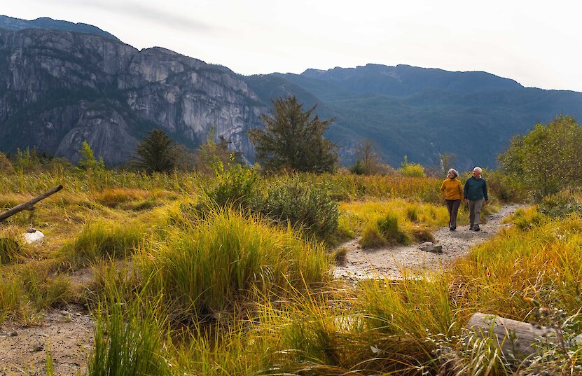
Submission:
<svg viewBox="0 0 582 376">
<path fill-rule="evenodd" d="M 441 228 L 434 233 L 435 244 L 443 246 L 443 253 L 431 253 L 418 249 L 419 244 L 408 246 L 390 246 L 377 249 L 361 249 L 359 239 L 353 239 L 340 247 L 348 249 L 345 265 L 336 266 L 333 275 L 343 279 L 386 278 L 402 279 L 402 270 L 406 267 L 408 274 L 414 270 L 438 270 L 456 258 L 469 253 L 475 246 L 493 235 L 501 228 L 501 220 L 515 212 L 520 205 L 511 204 L 501 207 L 487 216 L 487 223 L 480 225 L 481 230 L 469 230 L 469 225 L 459 226 L 456 231 Z"/>
</svg>

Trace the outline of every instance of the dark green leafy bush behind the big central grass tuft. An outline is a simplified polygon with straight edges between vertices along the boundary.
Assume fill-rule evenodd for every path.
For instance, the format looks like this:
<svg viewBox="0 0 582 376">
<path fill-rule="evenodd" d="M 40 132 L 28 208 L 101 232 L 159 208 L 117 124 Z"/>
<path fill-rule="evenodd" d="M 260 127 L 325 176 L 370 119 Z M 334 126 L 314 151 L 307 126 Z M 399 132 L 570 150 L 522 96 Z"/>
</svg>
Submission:
<svg viewBox="0 0 582 376">
<path fill-rule="evenodd" d="M 256 202 L 256 211 L 279 223 L 325 239 L 338 228 L 338 202 L 332 200 L 324 184 L 312 184 L 293 176 L 279 179 Z"/>
</svg>

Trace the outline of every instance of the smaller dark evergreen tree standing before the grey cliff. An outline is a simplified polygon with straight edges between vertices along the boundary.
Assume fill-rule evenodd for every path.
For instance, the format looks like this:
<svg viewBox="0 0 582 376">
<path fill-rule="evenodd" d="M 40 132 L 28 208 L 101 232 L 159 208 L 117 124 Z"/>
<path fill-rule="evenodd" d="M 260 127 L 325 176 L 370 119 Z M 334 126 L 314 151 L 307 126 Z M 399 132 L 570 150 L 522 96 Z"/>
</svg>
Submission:
<svg viewBox="0 0 582 376">
<path fill-rule="evenodd" d="M 162 130 L 152 130 L 134 152 L 132 163 L 148 174 L 170 172 L 176 167 L 179 146 Z"/>
</svg>

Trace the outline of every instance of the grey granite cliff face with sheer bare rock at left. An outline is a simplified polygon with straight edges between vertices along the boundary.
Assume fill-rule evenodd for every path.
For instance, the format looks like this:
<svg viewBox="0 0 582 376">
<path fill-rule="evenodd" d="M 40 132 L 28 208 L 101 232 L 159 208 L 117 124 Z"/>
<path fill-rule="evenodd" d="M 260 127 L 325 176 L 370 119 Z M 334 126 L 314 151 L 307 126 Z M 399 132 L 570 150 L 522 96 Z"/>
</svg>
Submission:
<svg viewBox="0 0 582 376">
<path fill-rule="evenodd" d="M 0 31 L 0 150 L 36 146 L 78 160 L 87 140 L 109 165 L 130 159 L 148 130 L 190 148 L 214 126 L 252 158 L 246 132 L 265 104 L 228 69 L 163 48 L 101 36 Z"/>
</svg>

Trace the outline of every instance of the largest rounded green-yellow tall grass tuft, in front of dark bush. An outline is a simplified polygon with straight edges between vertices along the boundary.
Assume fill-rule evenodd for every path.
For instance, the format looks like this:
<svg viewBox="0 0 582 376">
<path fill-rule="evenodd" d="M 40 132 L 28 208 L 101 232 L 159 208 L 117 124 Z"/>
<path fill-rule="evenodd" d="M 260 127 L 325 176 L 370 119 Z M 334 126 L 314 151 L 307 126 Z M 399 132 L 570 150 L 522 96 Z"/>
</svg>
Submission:
<svg viewBox="0 0 582 376">
<path fill-rule="evenodd" d="M 146 244 L 144 256 L 145 274 L 153 275 L 172 311 L 186 315 L 182 319 L 245 302 L 254 288 L 270 293 L 286 284 L 319 284 L 330 265 L 322 244 L 231 209 Z"/>
</svg>

